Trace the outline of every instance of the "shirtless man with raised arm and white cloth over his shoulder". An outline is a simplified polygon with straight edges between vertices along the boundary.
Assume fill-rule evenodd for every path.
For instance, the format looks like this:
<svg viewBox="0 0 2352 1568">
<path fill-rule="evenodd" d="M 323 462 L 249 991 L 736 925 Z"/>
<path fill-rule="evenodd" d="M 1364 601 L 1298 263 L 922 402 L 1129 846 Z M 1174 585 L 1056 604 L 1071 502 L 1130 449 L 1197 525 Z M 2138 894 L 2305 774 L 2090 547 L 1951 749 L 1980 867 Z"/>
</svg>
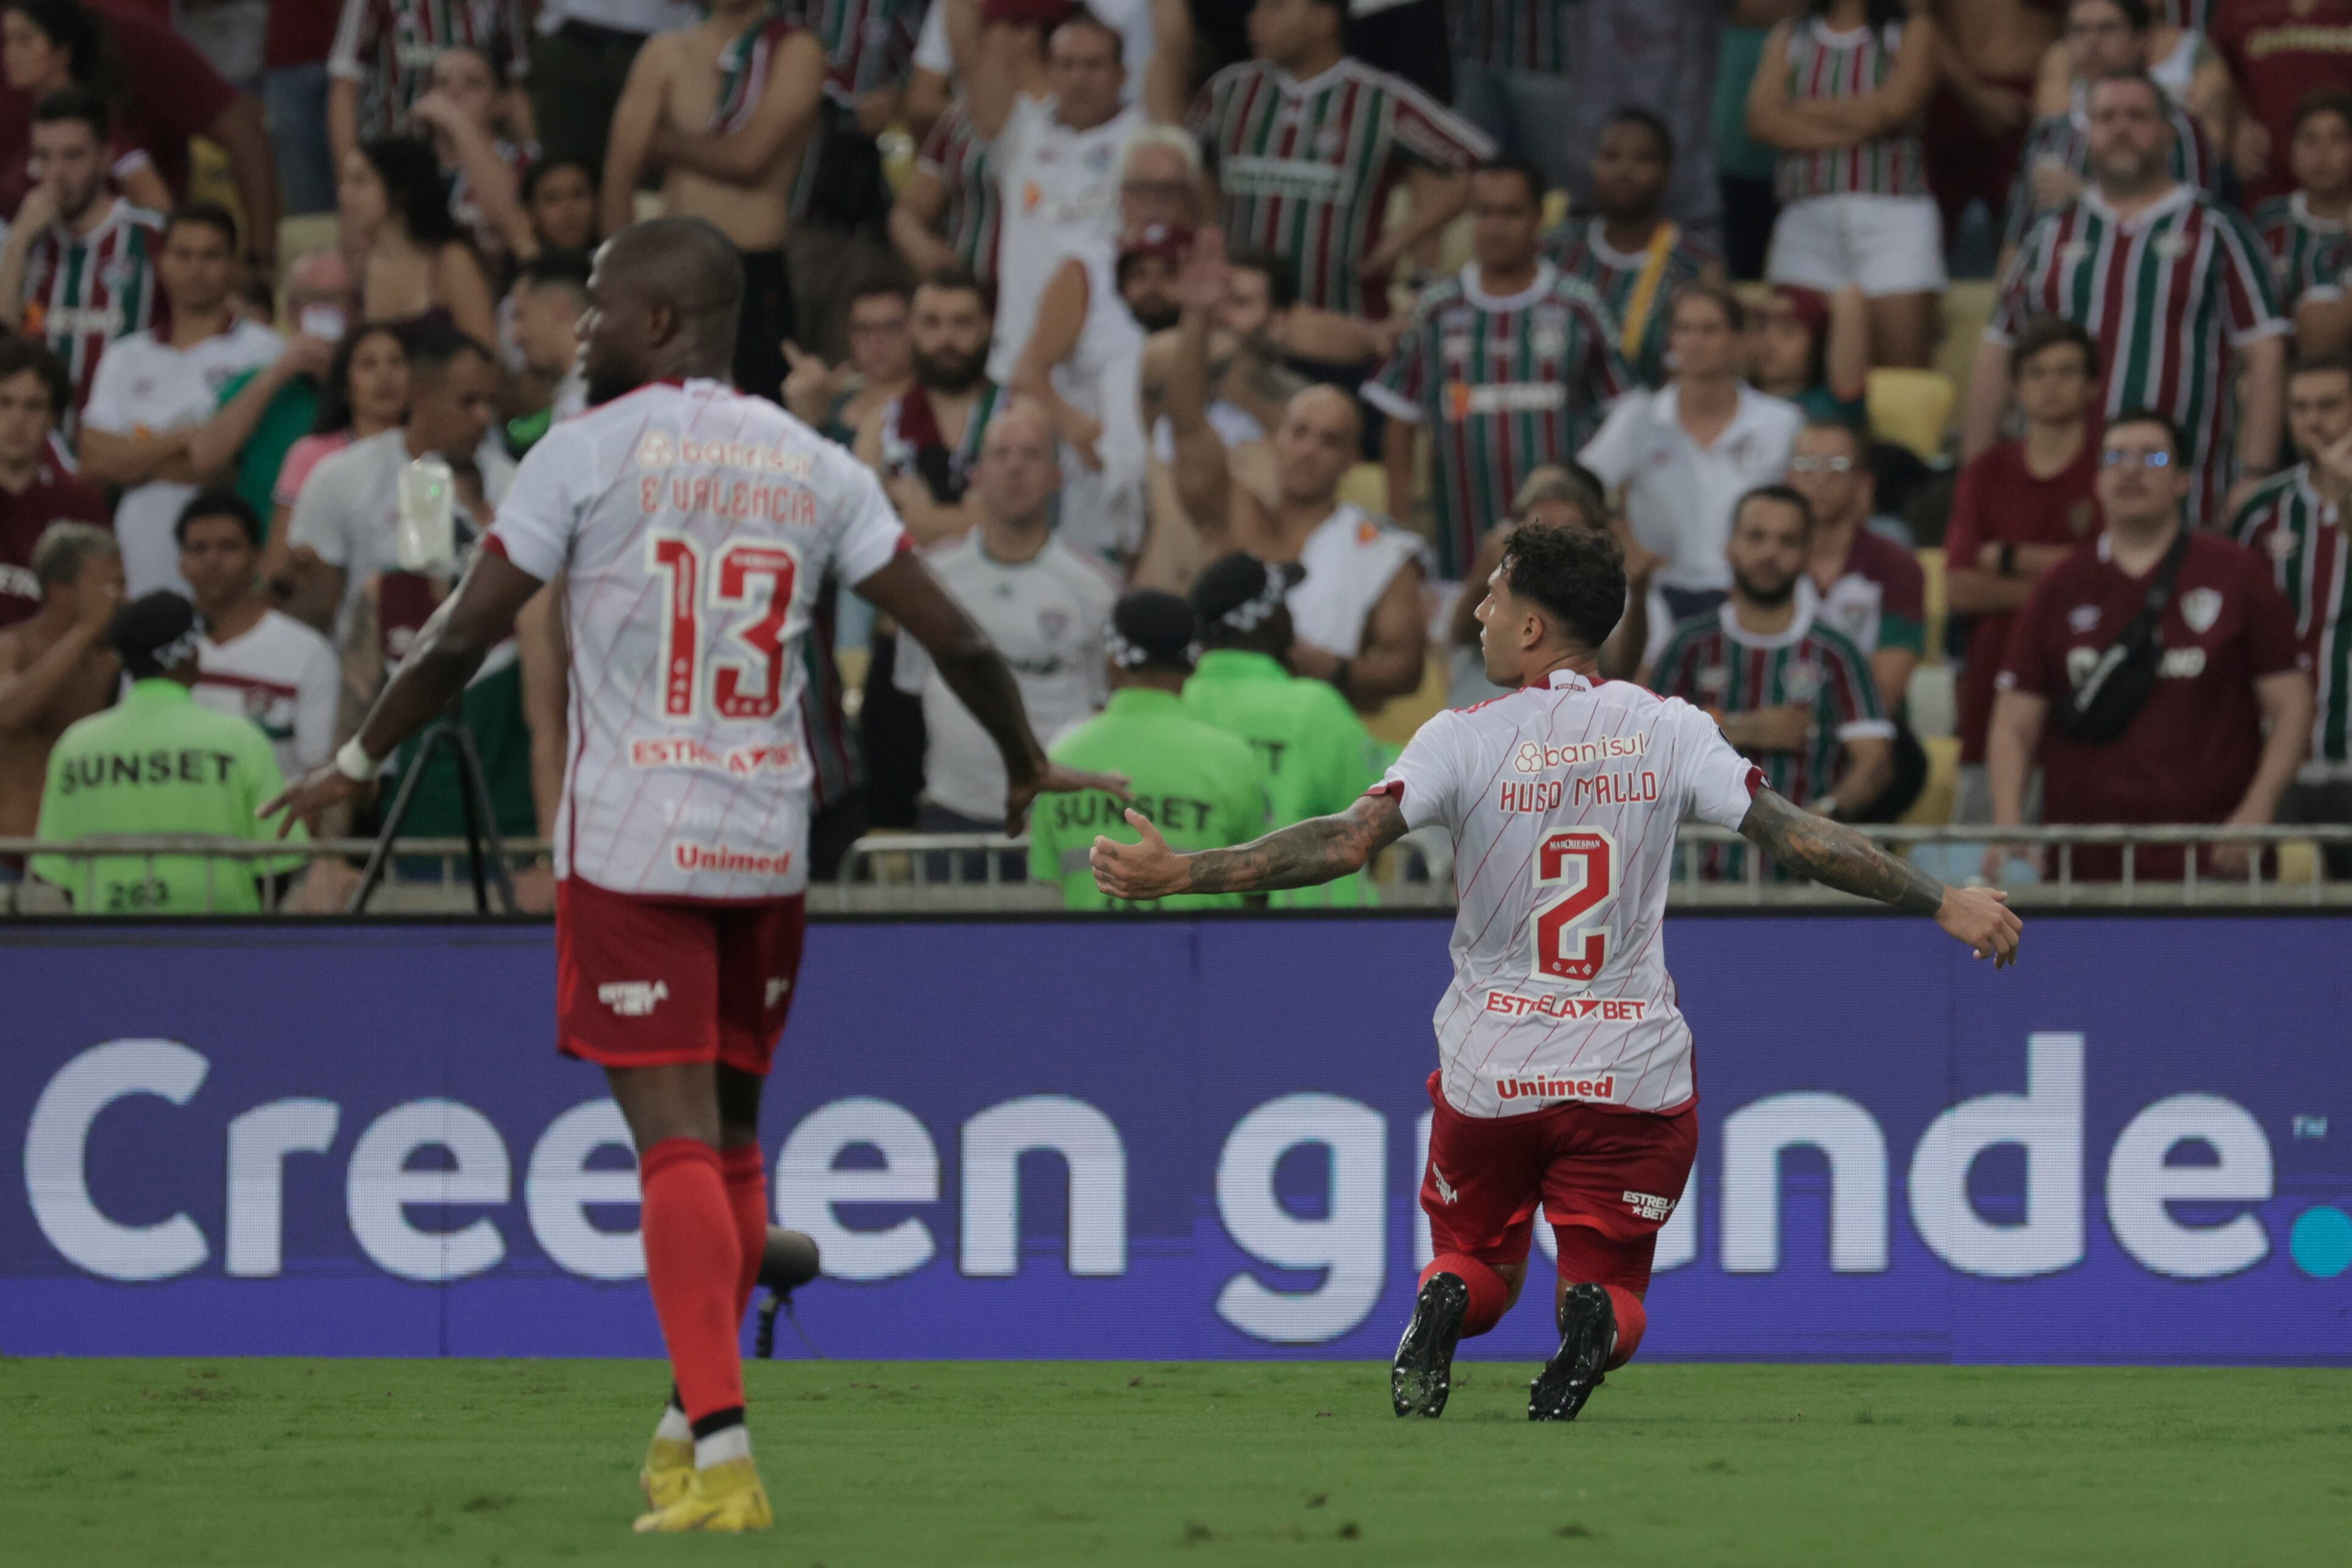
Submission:
<svg viewBox="0 0 2352 1568">
<path fill-rule="evenodd" d="M 1183 350 L 1169 378 L 1176 487 L 1209 555 L 1249 550 L 1305 567 L 1289 590 L 1291 670 L 1338 686 L 1359 712 L 1421 686 L 1428 616 L 1421 607 L 1423 543 L 1388 517 L 1338 498 L 1362 449 L 1355 397 L 1312 386 L 1275 425 L 1275 503 L 1232 482 L 1225 437 L 1209 423 L 1209 317 L 1225 299 L 1216 249 L 1195 249 L 1176 280 Z"/>
</svg>

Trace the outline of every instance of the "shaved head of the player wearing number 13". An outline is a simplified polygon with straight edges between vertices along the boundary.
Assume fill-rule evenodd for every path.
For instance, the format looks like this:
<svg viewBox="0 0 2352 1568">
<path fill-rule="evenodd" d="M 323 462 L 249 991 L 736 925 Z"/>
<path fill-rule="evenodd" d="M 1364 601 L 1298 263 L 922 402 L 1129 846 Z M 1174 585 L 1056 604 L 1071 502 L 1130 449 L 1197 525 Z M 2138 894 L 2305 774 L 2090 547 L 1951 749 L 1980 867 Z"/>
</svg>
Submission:
<svg viewBox="0 0 2352 1568">
<path fill-rule="evenodd" d="M 741 313 L 743 256 L 715 223 L 630 223 L 604 242 L 588 275 L 588 402 L 612 402 L 661 376 L 724 378 Z"/>
</svg>

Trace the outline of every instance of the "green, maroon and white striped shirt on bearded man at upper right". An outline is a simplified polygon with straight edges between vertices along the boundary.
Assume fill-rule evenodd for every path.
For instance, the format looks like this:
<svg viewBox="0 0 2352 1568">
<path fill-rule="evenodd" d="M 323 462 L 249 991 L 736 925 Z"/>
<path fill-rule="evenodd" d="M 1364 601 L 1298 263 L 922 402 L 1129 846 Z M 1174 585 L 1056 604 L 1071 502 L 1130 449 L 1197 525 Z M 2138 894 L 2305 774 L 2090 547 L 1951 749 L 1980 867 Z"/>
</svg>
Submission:
<svg viewBox="0 0 2352 1568">
<path fill-rule="evenodd" d="M 2154 409 L 2190 442 L 2194 517 L 2230 489 L 2237 348 L 2286 331 L 2270 254 L 2237 212 L 2187 186 L 2119 221 L 2098 190 L 2034 223 L 1985 336 L 2011 343 L 2058 315 L 2098 339 L 2105 414 Z"/>
</svg>

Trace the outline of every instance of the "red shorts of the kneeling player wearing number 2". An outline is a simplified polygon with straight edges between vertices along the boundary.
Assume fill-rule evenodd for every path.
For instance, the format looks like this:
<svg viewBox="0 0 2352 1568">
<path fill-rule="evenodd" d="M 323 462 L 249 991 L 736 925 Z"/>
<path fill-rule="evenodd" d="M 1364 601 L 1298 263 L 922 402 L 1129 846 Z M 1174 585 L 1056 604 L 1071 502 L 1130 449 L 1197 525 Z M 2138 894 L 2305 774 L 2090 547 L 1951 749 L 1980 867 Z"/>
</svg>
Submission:
<svg viewBox="0 0 2352 1568">
<path fill-rule="evenodd" d="M 1592 1284 L 1649 1288 L 1658 1229 L 1698 1154 L 1698 1114 L 1668 1117 L 1564 1100 L 1524 1117 L 1465 1117 L 1430 1074 L 1430 1168 L 1421 1208 L 1437 1253 L 1526 1262 L 1536 1206 L 1559 1237 L 1562 1269 Z"/>
</svg>

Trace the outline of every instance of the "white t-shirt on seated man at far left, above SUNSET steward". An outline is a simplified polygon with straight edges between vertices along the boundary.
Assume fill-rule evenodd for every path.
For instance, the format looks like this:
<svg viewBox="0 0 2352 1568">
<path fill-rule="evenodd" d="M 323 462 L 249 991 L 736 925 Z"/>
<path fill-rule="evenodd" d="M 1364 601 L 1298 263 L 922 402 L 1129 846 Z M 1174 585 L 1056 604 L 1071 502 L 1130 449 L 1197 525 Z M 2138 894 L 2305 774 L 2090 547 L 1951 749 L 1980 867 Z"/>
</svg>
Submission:
<svg viewBox="0 0 2352 1568">
<path fill-rule="evenodd" d="M 108 435 L 162 435 L 188 430 L 221 411 L 221 388 L 238 371 L 278 357 L 285 341 L 261 322 L 235 320 L 195 348 L 172 348 L 153 331 L 134 331 L 99 360 L 82 409 L 87 430 Z M 115 503 L 115 538 L 122 543 L 122 592 L 139 597 L 158 588 L 188 592 L 179 576 L 179 543 L 172 524 L 195 498 L 193 484 L 151 480 L 122 491 Z"/>
</svg>

